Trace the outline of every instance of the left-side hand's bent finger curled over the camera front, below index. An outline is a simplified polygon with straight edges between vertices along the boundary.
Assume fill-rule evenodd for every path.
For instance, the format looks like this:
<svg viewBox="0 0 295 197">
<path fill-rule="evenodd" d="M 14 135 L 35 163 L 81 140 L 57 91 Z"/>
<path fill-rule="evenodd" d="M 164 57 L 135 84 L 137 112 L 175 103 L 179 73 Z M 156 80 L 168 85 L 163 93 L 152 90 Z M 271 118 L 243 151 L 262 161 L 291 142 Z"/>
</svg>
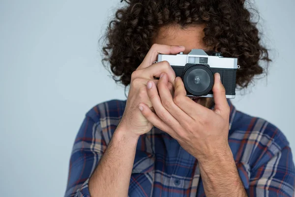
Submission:
<svg viewBox="0 0 295 197">
<path fill-rule="evenodd" d="M 137 70 L 136 72 L 138 76 L 147 79 L 153 79 L 154 77 L 159 78 L 162 73 L 166 73 L 168 75 L 168 81 L 172 84 L 175 83 L 175 71 L 167 61 L 158 62 L 145 69 Z"/>
</svg>

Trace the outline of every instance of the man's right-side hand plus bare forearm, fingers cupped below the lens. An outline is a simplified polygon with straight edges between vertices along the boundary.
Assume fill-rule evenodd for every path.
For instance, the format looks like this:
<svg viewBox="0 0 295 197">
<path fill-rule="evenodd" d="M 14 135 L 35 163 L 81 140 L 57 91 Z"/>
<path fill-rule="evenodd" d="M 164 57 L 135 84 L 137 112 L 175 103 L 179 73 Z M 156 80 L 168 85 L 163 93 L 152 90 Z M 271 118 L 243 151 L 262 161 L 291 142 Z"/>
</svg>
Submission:
<svg viewBox="0 0 295 197">
<path fill-rule="evenodd" d="M 167 83 L 167 74 L 160 75 L 157 87 L 152 81 L 148 82 L 148 97 L 156 113 L 140 103 L 142 114 L 197 158 L 206 196 L 246 197 L 228 143 L 230 107 L 220 75 L 214 75 L 214 110 L 186 97 L 179 77 L 175 80 L 174 97 Z"/>
</svg>

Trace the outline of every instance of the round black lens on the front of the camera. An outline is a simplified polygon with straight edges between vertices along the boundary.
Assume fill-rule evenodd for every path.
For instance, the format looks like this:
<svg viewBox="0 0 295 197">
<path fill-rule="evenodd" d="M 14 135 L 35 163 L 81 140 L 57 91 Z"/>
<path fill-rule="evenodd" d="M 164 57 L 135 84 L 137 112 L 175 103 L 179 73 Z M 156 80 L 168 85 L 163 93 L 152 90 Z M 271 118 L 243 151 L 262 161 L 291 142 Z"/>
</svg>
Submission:
<svg viewBox="0 0 295 197">
<path fill-rule="evenodd" d="M 191 66 L 186 70 L 183 82 L 186 90 L 192 95 L 207 95 L 213 86 L 213 74 L 206 66 Z"/>
</svg>

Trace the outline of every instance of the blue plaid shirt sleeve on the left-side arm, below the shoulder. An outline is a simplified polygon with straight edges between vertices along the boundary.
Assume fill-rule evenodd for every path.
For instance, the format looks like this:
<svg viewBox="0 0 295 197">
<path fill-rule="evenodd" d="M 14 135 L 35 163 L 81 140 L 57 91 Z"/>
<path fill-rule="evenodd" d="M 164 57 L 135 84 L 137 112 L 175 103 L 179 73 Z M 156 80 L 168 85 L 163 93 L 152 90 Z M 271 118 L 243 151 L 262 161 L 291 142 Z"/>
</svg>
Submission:
<svg viewBox="0 0 295 197">
<path fill-rule="evenodd" d="M 106 147 L 100 124 L 86 115 L 73 145 L 65 197 L 90 197 L 89 177 Z"/>
</svg>

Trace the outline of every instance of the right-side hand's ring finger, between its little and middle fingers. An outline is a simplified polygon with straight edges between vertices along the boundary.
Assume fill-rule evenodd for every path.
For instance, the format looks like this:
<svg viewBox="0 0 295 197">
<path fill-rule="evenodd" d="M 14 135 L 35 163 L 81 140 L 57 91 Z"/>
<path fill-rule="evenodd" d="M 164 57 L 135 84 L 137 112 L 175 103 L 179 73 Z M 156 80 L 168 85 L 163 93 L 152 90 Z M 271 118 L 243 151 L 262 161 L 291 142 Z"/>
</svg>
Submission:
<svg viewBox="0 0 295 197">
<path fill-rule="evenodd" d="M 150 99 L 157 116 L 170 128 L 179 129 L 179 122 L 163 107 L 157 88 L 153 81 L 148 82 L 147 92 L 148 98 Z"/>
</svg>

